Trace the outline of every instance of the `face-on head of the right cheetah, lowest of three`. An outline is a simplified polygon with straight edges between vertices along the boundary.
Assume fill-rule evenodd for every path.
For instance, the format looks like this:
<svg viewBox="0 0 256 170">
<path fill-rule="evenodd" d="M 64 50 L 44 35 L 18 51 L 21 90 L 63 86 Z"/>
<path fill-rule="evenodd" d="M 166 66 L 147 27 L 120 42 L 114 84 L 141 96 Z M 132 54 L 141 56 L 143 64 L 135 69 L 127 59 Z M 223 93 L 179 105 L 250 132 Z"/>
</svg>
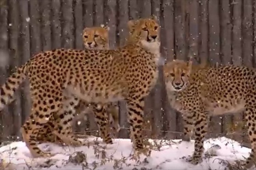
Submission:
<svg viewBox="0 0 256 170">
<path fill-rule="evenodd" d="M 163 66 L 166 87 L 171 91 L 181 91 L 189 84 L 192 61 L 175 60 Z"/>
</svg>

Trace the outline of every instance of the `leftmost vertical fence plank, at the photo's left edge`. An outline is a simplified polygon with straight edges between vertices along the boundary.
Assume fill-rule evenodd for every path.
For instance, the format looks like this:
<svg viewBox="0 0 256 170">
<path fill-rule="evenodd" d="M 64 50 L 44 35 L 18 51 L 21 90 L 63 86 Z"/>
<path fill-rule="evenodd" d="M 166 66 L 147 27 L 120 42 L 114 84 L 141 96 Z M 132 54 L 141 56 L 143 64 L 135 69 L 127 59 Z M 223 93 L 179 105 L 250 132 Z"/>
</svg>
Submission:
<svg viewBox="0 0 256 170">
<path fill-rule="evenodd" d="M 8 77 L 7 67 L 9 66 L 9 50 L 8 50 L 8 3 L 7 0 L 2 1 L 2 6 L 0 8 L 0 53 L 1 53 L 1 67 L 0 67 L 0 83 L 4 84 L 6 78 Z M 4 107 L 2 110 L 1 121 L 0 121 L 0 140 L 5 140 L 5 137 L 8 136 L 5 132 L 5 122 L 8 117 L 5 115 L 10 115 L 9 108 Z"/>
</svg>

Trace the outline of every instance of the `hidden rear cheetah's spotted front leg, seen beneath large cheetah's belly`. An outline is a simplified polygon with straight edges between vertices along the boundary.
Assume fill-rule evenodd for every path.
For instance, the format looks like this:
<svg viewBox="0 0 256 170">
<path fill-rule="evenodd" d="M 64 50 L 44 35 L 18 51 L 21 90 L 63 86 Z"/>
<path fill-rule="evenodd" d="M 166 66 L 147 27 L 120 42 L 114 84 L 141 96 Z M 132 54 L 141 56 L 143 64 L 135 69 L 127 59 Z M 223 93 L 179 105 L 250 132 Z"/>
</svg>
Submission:
<svg viewBox="0 0 256 170">
<path fill-rule="evenodd" d="M 106 112 L 106 108 L 101 104 L 94 104 L 93 112 L 95 114 L 95 121 L 97 122 L 100 129 L 101 138 L 105 143 L 113 144 L 110 135 L 110 122 L 108 120 L 108 113 Z"/>
</svg>

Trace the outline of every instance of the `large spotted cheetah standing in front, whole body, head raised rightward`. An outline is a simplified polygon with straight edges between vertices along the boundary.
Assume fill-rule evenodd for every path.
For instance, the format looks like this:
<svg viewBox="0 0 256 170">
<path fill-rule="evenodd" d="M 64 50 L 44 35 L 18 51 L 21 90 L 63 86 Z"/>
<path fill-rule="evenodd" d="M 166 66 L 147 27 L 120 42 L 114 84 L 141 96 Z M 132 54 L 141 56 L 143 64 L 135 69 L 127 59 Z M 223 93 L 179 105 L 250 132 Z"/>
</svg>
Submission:
<svg viewBox="0 0 256 170">
<path fill-rule="evenodd" d="M 126 45 L 114 50 L 62 48 L 35 54 L 0 87 L 2 109 L 12 101 L 20 83 L 29 79 L 32 108 L 21 133 L 33 157 L 52 156 L 37 146 L 37 136 L 48 126 L 63 143 L 85 145 L 71 128 L 80 100 L 103 105 L 125 100 L 133 147 L 143 149 L 144 98 L 158 78 L 160 28 L 155 16 L 140 19 L 134 28 Z M 65 95 L 65 90 L 70 94 Z M 104 119 L 100 126 L 106 126 Z"/>
</svg>

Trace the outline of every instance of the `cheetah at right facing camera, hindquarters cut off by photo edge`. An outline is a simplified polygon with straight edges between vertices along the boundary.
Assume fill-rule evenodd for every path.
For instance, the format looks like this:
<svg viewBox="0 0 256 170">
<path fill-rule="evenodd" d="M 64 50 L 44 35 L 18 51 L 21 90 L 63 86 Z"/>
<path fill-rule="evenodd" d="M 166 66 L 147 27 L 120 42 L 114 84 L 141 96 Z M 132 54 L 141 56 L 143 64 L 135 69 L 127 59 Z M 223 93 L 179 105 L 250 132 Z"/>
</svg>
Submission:
<svg viewBox="0 0 256 170">
<path fill-rule="evenodd" d="M 182 113 L 185 133 L 195 126 L 195 149 L 188 159 L 202 160 L 203 141 L 209 116 L 244 111 L 252 151 L 243 163 L 248 168 L 256 161 L 256 69 L 239 66 L 196 68 L 192 62 L 172 61 L 163 66 L 168 99 Z"/>
</svg>

